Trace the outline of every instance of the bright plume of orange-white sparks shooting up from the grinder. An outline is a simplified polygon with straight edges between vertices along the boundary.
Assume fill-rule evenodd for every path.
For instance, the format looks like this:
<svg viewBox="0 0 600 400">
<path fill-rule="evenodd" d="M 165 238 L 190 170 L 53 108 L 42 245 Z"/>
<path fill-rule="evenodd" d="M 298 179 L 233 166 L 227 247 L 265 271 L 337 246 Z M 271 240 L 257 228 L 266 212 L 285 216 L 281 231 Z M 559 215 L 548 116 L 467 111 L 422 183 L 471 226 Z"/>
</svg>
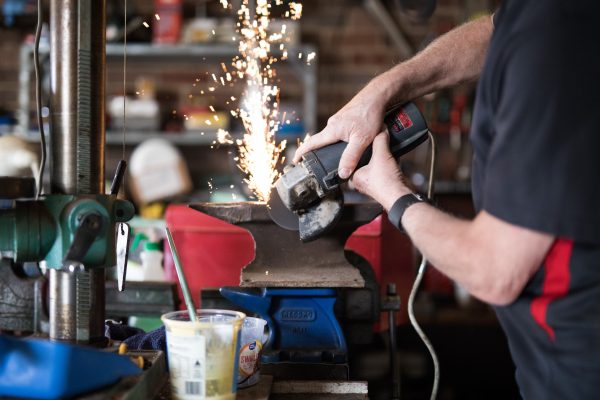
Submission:
<svg viewBox="0 0 600 400">
<path fill-rule="evenodd" d="M 231 9 L 231 3 L 220 0 L 224 8 Z M 238 3 L 240 4 L 240 3 Z M 279 177 L 278 167 L 283 163 L 283 150 L 286 142 L 277 143 L 275 135 L 280 126 L 289 123 L 285 114 L 281 118 L 279 114 L 279 94 L 277 85 L 278 78 L 275 64 L 279 60 L 288 57 L 286 49 L 290 43 L 288 29 L 285 24 L 281 25 L 279 32 L 270 29 L 271 7 L 281 6 L 282 0 L 241 0 L 238 15 L 237 34 L 232 41 L 238 41 L 239 55 L 235 56 L 228 71 L 227 66 L 221 63 L 223 75 L 206 73 L 212 78 L 215 86 L 208 86 L 208 92 L 215 92 L 220 86 L 233 86 L 236 80 L 244 80 L 245 89 L 240 99 L 239 108 L 229 110 L 235 118 L 240 118 L 244 126 L 241 138 L 234 140 L 229 132 L 219 129 L 216 140 L 210 146 L 213 148 L 218 144 L 235 144 L 238 154 L 234 157 L 238 168 L 245 173 L 244 183 L 253 192 L 254 196 L 262 202 L 269 200 L 274 182 Z M 285 16 L 291 19 L 299 19 L 302 15 L 302 4 L 291 2 L 288 5 Z M 214 34 L 214 32 L 213 32 Z M 281 57 L 271 55 L 271 47 L 277 48 Z M 301 58 L 302 55 L 299 55 Z M 209 78 L 209 79 L 210 79 Z M 204 94 L 200 90 L 200 94 Z M 230 96 L 231 101 L 236 97 Z M 229 104 L 229 101 L 227 101 Z M 219 116 L 215 114 L 215 108 L 209 106 L 212 115 L 206 119 L 206 125 L 217 125 Z M 210 187 L 212 189 L 212 187 Z"/>
</svg>

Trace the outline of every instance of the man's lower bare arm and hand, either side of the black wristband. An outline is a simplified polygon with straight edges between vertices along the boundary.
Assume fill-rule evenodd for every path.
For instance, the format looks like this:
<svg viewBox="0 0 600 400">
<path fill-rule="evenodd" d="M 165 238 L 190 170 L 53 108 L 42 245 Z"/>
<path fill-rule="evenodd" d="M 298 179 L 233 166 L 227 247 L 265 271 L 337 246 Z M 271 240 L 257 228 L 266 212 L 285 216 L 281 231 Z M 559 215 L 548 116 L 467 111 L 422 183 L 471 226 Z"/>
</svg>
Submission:
<svg viewBox="0 0 600 400">
<path fill-rule="evenodd" d="M 389 211 L 410 193 L 388 149 L 387 133 L 373 142 L 371 162 L 356 171 L 353 183 Z M 437 269 L 488 303 L 506 305 L 521 293 L 543 262 L 552 235 L 504 222 L 485 211 L 467 221 L 428 204 L 410 206 L 402 226 Z"/>
</svg>

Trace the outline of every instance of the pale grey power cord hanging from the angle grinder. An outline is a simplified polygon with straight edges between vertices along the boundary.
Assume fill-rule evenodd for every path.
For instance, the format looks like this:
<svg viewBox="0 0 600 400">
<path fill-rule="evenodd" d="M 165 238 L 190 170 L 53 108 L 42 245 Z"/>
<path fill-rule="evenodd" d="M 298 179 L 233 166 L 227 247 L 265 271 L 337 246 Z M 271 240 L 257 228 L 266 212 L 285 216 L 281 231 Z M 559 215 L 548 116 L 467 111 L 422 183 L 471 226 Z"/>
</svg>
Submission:
<svg viewBox="0 0 600 400">
<path fill-rule="evenodd" d="M 428 188 L 427 188 L 427 198 L 429 200 L 431 200 L 433 198 L 433 186 L 434 186 L 433 173 L 435 170 L 435 153 L 436 153 L 435 138 L 433 137 L 433 134 L 431 133 L 431 131 L 429 132 L 429 140 L 431 141 L 431 163 L 429 164 L 429 183 L 428 183 Z M 417 295 L 417 290 L 419 289 L 419 286 L 421 286 L 421 281 L 423 280 L 423 276 L 425 275 L 426 269 L 427 269 L 427 259 L 425 258 L 425 256 L 422 256 L 421 264 L 419 265 L 419 270 L 417 272 L 417 277 L 415 278 L 412 289 L 410 290 L 410 295 L 408 296 L 408 306 L 407 307 L 408 307 L 408 318 L 410 320 L 410 323 L 413 326 L 414 330 L 419 335 L 419 337 L 421 338 L 421 340 L 423 341 L 423 344 L 425 344 L 425 347 L 427 347 L 427 350 L 429 350 L 429 354 L 431 355 L 431 360 L 433 361 L 433 386 L 431 388 L 431 397 L 430 398 L 431 398 L 431 400 L 435 400 L 435 398 L 437 397 L 438 387 L 439 387 L 439 383 L 440 383 L 440 362 L 438 360 L 435 349 L 433 348 L 433 345 L 431 344 L 431 341 L 429 340 L 427 335 L 425 335 L 425 332 L 423 332 L 423 329 L 421 329 L 421 326 L 417 322 L 417 319 L 415 318 L 415 312 L 414 312 L 415 297 Z"/>
</svg>

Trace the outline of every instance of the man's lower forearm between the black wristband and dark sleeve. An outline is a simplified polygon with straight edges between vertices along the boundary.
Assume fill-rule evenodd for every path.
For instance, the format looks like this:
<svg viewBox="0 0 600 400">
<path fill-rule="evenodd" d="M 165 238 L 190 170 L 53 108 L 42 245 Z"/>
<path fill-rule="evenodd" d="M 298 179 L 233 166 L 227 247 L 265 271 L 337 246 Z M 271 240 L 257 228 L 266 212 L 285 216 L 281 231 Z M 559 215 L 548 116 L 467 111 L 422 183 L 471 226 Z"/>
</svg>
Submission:
<svg viewBox="0 0 600 400">
<path fill-rule="evenodd" d="M 500 305 L 519 295 L 554 240 L 486 212 L 463 220 L 427 204 L 409 207 L 402 225 L 432 265 L 474 296 Z"/>
</svg>

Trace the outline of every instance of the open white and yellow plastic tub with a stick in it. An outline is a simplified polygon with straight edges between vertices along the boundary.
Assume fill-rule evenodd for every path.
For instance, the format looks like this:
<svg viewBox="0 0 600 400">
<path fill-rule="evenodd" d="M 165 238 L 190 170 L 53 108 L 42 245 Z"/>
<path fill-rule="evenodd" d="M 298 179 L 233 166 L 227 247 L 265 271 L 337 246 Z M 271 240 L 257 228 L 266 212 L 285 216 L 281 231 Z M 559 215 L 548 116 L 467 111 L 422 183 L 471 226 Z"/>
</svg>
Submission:
<svg viewBox="0 0 600 400">
<path fill-rule="evenodd" d="M 235 399 L 240 332 L 246 315 L 230 310 L 164 314 L 173 399 Z"/>
</svg>

